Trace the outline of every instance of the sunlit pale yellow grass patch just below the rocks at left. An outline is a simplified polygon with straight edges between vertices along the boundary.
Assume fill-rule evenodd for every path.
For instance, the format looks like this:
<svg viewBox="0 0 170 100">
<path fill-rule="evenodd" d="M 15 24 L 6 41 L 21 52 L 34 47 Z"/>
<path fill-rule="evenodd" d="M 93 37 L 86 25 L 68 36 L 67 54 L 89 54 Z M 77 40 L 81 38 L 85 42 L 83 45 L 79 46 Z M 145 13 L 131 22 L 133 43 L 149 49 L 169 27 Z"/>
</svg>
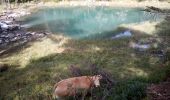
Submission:
<svg viewBox="0 0 170 100">
<path fill-rule="evenodd" d="M 23 68 L 31 59 L 38 59 L 54 53 L 62 53 L 65 49 L 63 45 L 67 43 L 67 41 L 68 38 L 63 36 L 49 35 L 48 37 L 42 38 L 40 41 L 29 43 L 29 46 L 21 52 L 10 57 L 5 57 L 0 61 L 19 64 Z"/>
</svg>

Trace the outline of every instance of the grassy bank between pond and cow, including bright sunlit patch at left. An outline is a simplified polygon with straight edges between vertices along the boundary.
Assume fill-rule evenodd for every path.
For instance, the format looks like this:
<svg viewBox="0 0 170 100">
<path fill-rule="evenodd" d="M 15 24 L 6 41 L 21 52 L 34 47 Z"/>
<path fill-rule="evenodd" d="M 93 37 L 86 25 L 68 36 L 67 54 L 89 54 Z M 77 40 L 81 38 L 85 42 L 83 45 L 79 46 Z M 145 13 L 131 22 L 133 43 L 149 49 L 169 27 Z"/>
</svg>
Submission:
<svg viewBox="0 0 170 100">
<path fill-rule="evenodd" d="M 69 66 L 83 69 L 92 64 L 111 73 L 116 81 L 107 100 L 143 99 L 147 85 L 165 80 L 169 73 L 169 66 L 162 66 L 159 57 L 129 46 L 131 41 L 150 37 L 71 40 L 51 35 L 30 42 L 1 56 L 0 61 L 11 66 L 0 73 L 0 99 L 52 99 L 54 84 L 72 76 Z M 102 88 L 94 89 L 96 96 L 86 99 L 101 99 Z"/>
</svg>

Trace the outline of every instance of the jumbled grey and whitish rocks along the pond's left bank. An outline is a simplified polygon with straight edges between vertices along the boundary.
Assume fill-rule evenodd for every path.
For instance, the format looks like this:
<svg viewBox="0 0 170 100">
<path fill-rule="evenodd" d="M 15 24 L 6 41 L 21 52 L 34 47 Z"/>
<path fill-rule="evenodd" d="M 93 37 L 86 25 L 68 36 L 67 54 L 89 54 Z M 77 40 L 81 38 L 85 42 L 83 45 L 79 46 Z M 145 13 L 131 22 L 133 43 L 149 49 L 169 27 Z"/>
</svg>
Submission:
<svg viewBox="0 0 170 100">
<path fill-rule="evenodd" d="M 28 42 L 33 39 L 41 38 L 47 35 L 42 32 L 27 32 L 16 24 L 15 18 L 24 16 L 27 13 L 25 9 L 20 11 L 7 11 L 0 15 L 0 46 L 7 46 L 14 42 Z"/>
</svg>

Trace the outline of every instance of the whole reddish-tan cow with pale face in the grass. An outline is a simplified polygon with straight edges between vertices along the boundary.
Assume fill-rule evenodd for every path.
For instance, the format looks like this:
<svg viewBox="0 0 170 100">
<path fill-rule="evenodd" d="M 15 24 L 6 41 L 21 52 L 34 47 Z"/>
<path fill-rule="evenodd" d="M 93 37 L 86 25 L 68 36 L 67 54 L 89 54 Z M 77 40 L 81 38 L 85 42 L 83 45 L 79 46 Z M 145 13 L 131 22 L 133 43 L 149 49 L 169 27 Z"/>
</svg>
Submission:
<svg viewBox="0 0 170 100">
<path fill-rule="evenodd" d="M 65 96 L 75 96 L 79 90 L 87 91 L 92 87 L 100 86 L 101 75 L 95 76 L 80 76 L 61 80 L 54 85 L 55 98 Z"/>
</svg>

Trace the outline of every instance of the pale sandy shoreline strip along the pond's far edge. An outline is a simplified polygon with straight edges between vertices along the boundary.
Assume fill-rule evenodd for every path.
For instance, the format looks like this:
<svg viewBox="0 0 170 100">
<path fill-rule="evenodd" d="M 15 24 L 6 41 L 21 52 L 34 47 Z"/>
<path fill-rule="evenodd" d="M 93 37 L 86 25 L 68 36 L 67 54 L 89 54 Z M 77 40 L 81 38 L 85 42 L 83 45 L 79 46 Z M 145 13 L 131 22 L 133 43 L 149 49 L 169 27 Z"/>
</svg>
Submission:
<svg viewBox="0 0 170 100">
<path fill-rule="evenodd" d="M 125 8 L 146 8 L 146 6 L 154 6 L 162 9 L 170 9 L 170 3 L 165 1 L 60 1 L 60 2 L 39 2 L 39 3 L 21 3 L 19 6 L 11 4 L 10 10 L 16 10 L 19 8 L 26 8 L 28 11 L 41 8 L 41 7 L 76 7 L 76 6 L 108 6 L 108 7 L 125 7 Z M 5 5 L 0 5 L 0 9 L 9 10 Z M 2 12 L 1 11 L 1 12 Z"/>
</svg>

